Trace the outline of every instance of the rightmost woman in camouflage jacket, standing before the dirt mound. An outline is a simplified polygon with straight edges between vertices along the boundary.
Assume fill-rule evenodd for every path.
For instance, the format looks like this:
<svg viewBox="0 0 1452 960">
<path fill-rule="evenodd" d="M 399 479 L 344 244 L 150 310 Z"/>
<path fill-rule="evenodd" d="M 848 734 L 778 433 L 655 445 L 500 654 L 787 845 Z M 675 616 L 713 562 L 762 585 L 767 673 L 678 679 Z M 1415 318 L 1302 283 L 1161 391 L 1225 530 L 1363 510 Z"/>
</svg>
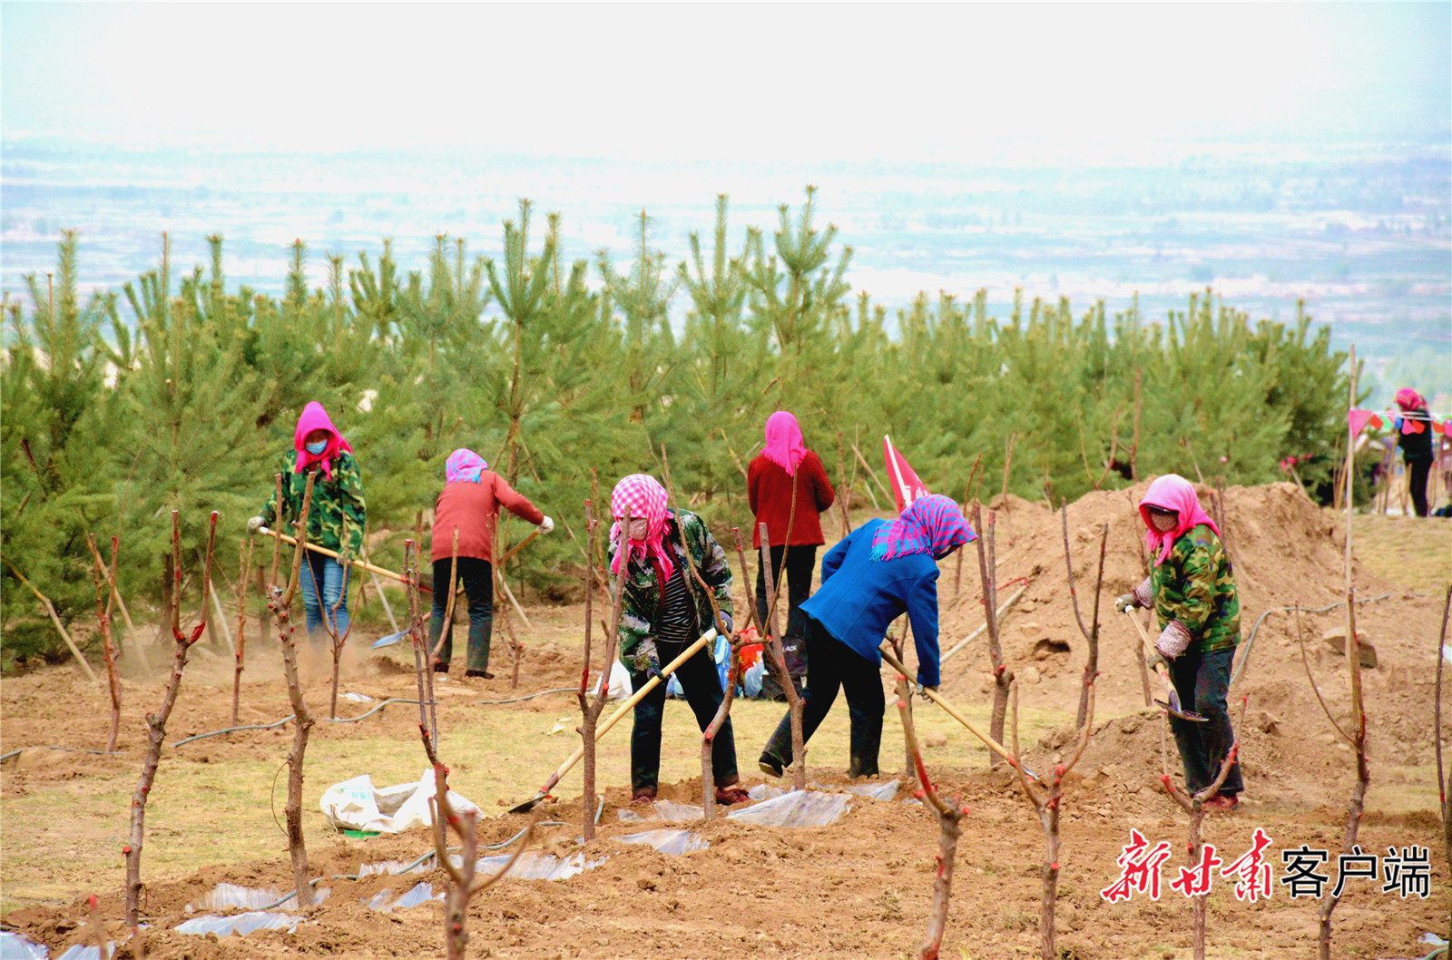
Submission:
<svg viewBox="0 0 1452 960">
<path fill-rule="evenodd" d="M 1214 783 L 1236 742 L 1225 691 L 1240 642 L 1240 600 L 1220 527 L 1201 508 L 1189 481 L 1175 473 L 1157 478 L 1140 501 L 1140 517 L 1154 566 L 1134 593 L 1118 597 L 1114 606 L 1121 613 L 1153 607 L 1159 616 L 1160 636 L 1149 667 L 1165 667 L 1183 710 L 1202 719 L 1194 722 L 1173 712 L 1169 717 L 1185 764 L 1185 789 L 1194 794 Z M 1237 760 L 1205 806 L 1231 810 L 1243 789 Z"/>
</svg>

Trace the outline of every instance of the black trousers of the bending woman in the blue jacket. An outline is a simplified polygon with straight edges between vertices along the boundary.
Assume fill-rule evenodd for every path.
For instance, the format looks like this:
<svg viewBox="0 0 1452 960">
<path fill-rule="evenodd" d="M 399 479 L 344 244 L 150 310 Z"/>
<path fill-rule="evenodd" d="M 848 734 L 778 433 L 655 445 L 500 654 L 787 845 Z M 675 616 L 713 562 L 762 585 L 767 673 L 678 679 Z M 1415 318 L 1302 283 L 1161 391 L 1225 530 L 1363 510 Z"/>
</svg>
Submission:
<svg viewBox="0 0 1452 960">
<path fill-rule="evenodd" d="M 877 773 L 877 752 L 883 745 L 881 667 L 828 633 L 826 627 L 803 617 L 807 625 L 807 686 L 803 693 L 802 742 L 812 739 L 822 726 L 841 688 L 847 694 L 847 715 L 852 723 L 847 773 L 871 777 Z M 781 717 L 761 751 L 761 758 L 783 767 L 791 762 L 791 713 Z"/>
</svg>

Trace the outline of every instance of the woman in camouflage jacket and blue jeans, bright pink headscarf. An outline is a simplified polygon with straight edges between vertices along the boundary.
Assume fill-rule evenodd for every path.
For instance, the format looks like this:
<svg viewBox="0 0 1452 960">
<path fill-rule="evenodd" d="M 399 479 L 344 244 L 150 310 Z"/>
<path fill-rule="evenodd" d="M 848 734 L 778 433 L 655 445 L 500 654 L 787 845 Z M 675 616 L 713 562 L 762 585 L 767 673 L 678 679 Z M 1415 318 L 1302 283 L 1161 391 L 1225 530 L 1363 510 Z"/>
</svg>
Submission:
<svg viewBox="0 0 1452 960">
<path fill-rule="evenodd" d="M 333 426 L 328 411 L 318 401 L 302 408 L 292 433 L 292 450 L 283 455 L 279 472 L 282 503 L 277 503 L 277 491 L 273 488 L 263 511 L 247 521 L 247 529 L 266 526 L 287 533 L 302 514 L 308 475 L 314 473 L 317 479 L 308 505 L 308 543 L 357 558 L 363 550 L 363 530 L 367 526 L 363 476 L 359 473 L 359 462 L 353 459 L 353 447 Z M 347 636 L 347 568 L 331 556 L 308 550 L 301 585 L 308 636 L 321 640 L 319 627 L 340 638 Z"/>
</svg>

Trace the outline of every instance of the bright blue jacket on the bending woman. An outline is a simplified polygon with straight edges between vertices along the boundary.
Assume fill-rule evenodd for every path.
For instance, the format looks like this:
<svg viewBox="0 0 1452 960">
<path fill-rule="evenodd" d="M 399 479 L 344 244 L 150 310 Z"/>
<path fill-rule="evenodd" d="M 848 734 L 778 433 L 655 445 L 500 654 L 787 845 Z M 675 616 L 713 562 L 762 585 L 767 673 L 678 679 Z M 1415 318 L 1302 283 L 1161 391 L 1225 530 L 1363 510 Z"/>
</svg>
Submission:
<svg viewBox="0 0 1452 960">
<path fill-rule="evenodd" d="M 884 520 L 868 520 L 822 558 L 822 585 L 802 611 L 838 642 L 874 664 L 887 626 L 908 614 L 918 646 L 918 683 L 938 686 L 938 564 L 926 553 L 873 559 L 873 536 Z"/>
</svg>

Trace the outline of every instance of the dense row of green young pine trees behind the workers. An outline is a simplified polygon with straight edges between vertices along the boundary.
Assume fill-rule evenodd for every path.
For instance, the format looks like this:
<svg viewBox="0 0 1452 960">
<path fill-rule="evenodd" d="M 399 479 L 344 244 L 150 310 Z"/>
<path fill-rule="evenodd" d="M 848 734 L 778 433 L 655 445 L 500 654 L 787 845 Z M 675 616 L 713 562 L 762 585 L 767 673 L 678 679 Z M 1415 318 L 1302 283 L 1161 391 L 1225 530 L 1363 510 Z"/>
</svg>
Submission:
<svg viewBox="0 0 1452 960">
<path fill-rule="evenodd" d="M 94 614 L 87 532 L 119 533 L 132 606 L 163 598 L 170 510 L 189 558 L 206 511 L 221 511 L 227 568 L 309 399 L 351 442 L 372 533 L 388 532 L 370 559 L 399 569 L 444 459 L 466 446 L 560 521 L 511 562 L 546 598 L 576 588 L 595 478 L 607 497 L 626 472 L 658 473 L 662 444 L 682 500 L 745 529 L 739 463 L 778 408 L 796 412 L 833 482 L 857 476 L 860 498 L 868 481 L 851 444 L 877 465 L 883 433 L 955 498 L 976 463 L 977 492 L 996 494 L 1009 452 L 1008 489 L 1056 503 L 1127 484 L 1111 466 L 1257 484 L 1286 479 L 1279 462 L 1294 455 L 1311 457 L 1298 471 L 1313 492 L 1330 476 L 1349 366 L 1304 311 L 1256 322 L 1205 290 L 1156 321 L 1022 298 L 998 318 L 986 292 L 922 293 L 892 322 L 848 286 L 851 247 L 817 225 L 812 187 L 774 231 L 735 231 L 727 216 L 722 196 L 684 260 L 652 245 L 642 212 L 632 263 L 563 263 L 559 215 L 539 231 L 521 202 L 497 260 L 440 235 L 405 272 L 385 241 L 328 256 L 321 289 L 299 241 L 280 299 L 229 286 L 212 237 L 209 264 L 179 270 L 163 243 L 155 269 L 83 304 L 67 234 L 54 276 L 4 298 L 6 662 L 58 645 L 15 571 L 62 620 Z M 510 539 L 523 536 L 514 523 Z"/>
</svg>

